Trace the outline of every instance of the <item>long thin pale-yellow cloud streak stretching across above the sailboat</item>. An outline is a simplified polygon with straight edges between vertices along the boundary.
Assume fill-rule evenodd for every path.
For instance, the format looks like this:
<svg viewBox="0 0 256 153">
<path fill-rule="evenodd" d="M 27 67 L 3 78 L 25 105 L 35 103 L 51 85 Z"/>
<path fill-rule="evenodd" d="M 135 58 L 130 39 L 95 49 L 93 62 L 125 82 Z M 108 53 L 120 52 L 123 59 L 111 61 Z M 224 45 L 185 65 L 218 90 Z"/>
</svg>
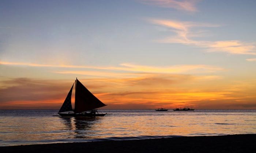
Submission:
<svg viewBox="0 0 256 153">
<path fill-rule="evenodd" d="M 90 68 L 96 70 L 111 70 L 111 71 L 130 71 L 130 72 L 147 72 L 147 73 L 203 73 L 203 72 L 215 72 L 223 70 L 221 67 L 215 67 L 204 64 L 195 64 L 195 65 L 173 65 L 173 66 L 144 66 L 131 63 L 122 63 L 120 66 L 113 67 L 95 67 L 95 66 L 77 66 L 77 65 L 51 65 L 51 64 L 35 64 L 35 63 L 17 63 L 17 62 L 1 62 L 3 65 L 14 65 L 14 66 L 32 66 L 32 67 L 63 67 L 63 68 Z M 111 75 L 109 72 L 90 72 L 92 75 Z M 75 73 L 75 74 L 84 74 L 85 71 L 57 71 L 57 73 Z"/>
</svg>

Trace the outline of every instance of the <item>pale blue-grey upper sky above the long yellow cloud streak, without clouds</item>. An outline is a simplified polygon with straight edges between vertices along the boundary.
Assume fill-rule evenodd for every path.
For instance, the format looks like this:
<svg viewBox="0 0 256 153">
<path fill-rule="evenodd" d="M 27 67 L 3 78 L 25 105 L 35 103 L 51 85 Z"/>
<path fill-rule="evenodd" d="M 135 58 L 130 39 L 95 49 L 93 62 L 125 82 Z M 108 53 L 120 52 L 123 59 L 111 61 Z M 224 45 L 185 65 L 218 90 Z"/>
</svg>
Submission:
<svg viewBox="0 0 256 153">
<path fill-rule="evenodd" d="M 1 59 L 20 62 L 44 62 L 45 59 L 56 62 L 58 59 L 57 62 L 94 65 L 150 64 L 156 59 L 154 64 L 164 66 L 176 64 L 177 58 L 185 58 L 178 64 L 192 64 L 199 59 L 186 58 L 187 54 L 192 52 L 194 57 L 204 54 L 205 48 L 155 42 L 172 36 L 173 32 L 152 24 L 151 19 L 217 26 L 193 28 L 204 35 L 195 38 L 198 40 L 255 42 L 255 1 L 198 1 L 194 4 L 196 11 L 164 8 L 146 2 L 3 1 Z M 219 59 L 227 55 L 217 54 L 207 53 L 203 58 Z M 241 55 L 240 58 L 250 57 Z M 236 60 L 236 55 L 233 58 Z"/>
</svg>

